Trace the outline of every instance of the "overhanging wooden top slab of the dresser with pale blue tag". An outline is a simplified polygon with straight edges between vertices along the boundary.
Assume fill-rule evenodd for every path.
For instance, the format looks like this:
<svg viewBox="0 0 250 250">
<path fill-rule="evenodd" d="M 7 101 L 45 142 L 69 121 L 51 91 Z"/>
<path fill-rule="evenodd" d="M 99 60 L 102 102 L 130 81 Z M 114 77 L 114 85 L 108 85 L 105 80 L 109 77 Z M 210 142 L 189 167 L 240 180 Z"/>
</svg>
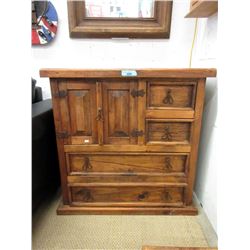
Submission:
<svg viewBox="0 0 250 250">
<path fill-rule="evenodd" d="M 41 77 L 49 78 L 206 78 L 215 77 L 215 68 L 178 69 L 41 69 Z M 124 74 L 125 76 L 123 76 Z"/>
</svg>

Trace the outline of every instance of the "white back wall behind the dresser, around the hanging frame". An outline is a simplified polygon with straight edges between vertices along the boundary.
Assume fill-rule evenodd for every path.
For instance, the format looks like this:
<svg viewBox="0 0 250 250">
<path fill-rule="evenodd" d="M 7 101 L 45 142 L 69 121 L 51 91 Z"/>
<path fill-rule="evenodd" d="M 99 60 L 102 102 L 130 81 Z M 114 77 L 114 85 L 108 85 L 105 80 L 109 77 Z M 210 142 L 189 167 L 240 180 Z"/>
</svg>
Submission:
<svg viewBox="0 0 250 250">
<path fill-rule="evenodd" d="M 188 67 L 194 19 L 185 19 L 189 0 L 174 1 L 170 39 L 71 39 L 67 3 L 52 0 L 59 24 L 55 40 L 32 47 L 32 77 L 50 97 L 48 79 L 39 79 L 40 68 L 164 68 Z"/>
</svg>

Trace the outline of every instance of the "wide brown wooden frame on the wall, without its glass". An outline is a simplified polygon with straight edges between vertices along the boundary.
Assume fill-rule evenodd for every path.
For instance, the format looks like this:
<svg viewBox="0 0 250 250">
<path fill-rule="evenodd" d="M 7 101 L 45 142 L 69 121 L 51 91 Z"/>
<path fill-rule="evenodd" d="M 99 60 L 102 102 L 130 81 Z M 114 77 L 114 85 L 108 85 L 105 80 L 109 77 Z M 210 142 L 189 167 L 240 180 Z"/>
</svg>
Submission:
<svg viewBox="0 0 250 250">
<path fill-rule="evenodd" d="M 71 38 L 169 38 L 172 1 L 155 1 L 152 18 L 86 17 L 85 1 L 68 1 Z"/>
</svg>

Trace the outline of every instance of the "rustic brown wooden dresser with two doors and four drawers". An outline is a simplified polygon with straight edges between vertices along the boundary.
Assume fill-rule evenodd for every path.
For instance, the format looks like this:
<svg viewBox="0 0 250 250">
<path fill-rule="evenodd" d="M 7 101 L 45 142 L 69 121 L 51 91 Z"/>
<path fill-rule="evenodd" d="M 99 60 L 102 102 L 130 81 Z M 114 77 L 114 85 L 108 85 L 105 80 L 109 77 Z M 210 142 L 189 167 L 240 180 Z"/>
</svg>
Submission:
<svg viewBox="0 0 250 250">
<path fill-rule="evenodd" d="M 215 69 L 41 69 L 59 153 L 58 214 L 195 215 L 206 77 Z"/>
</svg>

